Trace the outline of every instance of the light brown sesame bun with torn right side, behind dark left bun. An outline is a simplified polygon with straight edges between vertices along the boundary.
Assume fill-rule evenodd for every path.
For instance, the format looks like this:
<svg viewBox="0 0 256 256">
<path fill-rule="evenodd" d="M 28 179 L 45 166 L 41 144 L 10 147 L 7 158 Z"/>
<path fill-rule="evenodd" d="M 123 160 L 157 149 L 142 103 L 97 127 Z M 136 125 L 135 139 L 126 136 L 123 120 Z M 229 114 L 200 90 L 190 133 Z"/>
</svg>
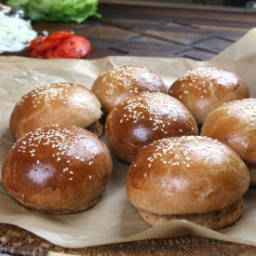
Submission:
<svg viewBox="0 0 256 256">
<path fill-rule="evenodd" d="M 56 82 L 24 95 L 10 115 L 9 128 L 18 140 L 29 131 L 49 125 L 87 128 L 101 114 L 101 102 L 88 88 Z"/>
</svg>

